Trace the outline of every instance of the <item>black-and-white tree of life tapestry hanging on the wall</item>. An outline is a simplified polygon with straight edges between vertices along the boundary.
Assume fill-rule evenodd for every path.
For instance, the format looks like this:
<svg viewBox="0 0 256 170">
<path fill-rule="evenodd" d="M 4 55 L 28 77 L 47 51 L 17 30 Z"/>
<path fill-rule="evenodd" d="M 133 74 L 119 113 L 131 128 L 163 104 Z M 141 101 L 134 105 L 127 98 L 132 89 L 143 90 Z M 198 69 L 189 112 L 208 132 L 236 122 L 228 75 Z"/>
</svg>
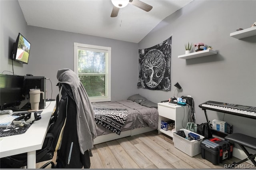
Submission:
<svg viewBox="0 0 256 170">
<path fill-rule="evenodd" d="M 168 91 L 171 89 L 172 37 L 146 49 L 139 49 L 138 87 Z"/>
</svg>

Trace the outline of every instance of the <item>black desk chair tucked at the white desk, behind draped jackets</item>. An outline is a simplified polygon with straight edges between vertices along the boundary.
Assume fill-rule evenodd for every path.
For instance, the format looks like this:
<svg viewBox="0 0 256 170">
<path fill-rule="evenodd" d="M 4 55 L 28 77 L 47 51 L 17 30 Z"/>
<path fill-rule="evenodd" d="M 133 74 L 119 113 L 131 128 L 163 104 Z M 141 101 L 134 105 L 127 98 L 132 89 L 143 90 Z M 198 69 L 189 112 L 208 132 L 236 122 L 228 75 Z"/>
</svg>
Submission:
<svg viewBox="0 0 256 170">
<path fill-rule="evenodd" d="M 66 119 L 66 115 L 59 114 L 58 105 L 59 95 L 56 97 L 56 110 L 54 111 L 50 120 L 48 132 L 44 139 L 42 149 L 36 151 L 36 163 L 51 160 L 53 158 L 58 138 Z M 48 164 L 52 164 L 52 168 L 55 167 L 54 162 L 50 161 L 47 163 L 47 165 L 44 165 L 41 168 L 45 168 L 48 166 Z M 26 165 L 27 153 L 7 156 L 0 159 L 0 168 L 20 168 Z"/>
</svg>

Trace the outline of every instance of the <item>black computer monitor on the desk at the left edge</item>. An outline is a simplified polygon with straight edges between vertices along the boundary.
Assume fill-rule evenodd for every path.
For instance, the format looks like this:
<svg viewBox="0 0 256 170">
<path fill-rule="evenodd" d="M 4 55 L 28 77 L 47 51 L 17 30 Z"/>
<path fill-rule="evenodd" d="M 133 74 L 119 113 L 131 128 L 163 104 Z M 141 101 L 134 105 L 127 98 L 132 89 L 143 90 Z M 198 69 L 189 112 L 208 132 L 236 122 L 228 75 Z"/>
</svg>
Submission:
<svg viewBox="0 0 256 170">
<path fill-rule="evenodd" d="M 0 74 L 1 110 L 22 101 L 24 76 Z"/>
</svg>

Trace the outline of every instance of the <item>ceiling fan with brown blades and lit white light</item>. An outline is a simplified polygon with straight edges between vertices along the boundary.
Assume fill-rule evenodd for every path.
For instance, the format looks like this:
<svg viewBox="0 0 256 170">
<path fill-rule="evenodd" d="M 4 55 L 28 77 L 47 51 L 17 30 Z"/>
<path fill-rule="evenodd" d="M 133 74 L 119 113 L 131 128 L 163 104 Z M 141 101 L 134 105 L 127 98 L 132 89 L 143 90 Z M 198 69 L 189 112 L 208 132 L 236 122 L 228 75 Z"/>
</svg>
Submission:
<svg viewBox="0 0 256 170">
<path fill-rule="evenodd" d="M 150 11 L 153 7 L 148 5 L 140 0 L 111 0 L 113 6 L 113 10 L 111 13 L 111 17 L 116 17 L 118 15 L 119 9 L 124 8 L 128 4 L 132 4 L 146 12 Z"/>
</svg>

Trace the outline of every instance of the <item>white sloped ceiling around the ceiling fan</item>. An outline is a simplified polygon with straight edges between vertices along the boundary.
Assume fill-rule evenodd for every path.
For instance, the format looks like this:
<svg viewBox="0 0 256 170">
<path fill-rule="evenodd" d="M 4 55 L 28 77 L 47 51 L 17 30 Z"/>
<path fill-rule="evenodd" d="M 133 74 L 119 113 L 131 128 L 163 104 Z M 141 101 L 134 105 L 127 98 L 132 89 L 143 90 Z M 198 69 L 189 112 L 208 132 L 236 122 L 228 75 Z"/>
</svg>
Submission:
<svg viewBox="0 0 256 170">
<path fill-rule="evenodd" d="M 111 18 L 111 0 L 18 0 L 30 26 L 140 42 L 164 18 L 192 0 L 141 0 L 153 6 L 146 12 L 131 4 Z"/>
</svg>

